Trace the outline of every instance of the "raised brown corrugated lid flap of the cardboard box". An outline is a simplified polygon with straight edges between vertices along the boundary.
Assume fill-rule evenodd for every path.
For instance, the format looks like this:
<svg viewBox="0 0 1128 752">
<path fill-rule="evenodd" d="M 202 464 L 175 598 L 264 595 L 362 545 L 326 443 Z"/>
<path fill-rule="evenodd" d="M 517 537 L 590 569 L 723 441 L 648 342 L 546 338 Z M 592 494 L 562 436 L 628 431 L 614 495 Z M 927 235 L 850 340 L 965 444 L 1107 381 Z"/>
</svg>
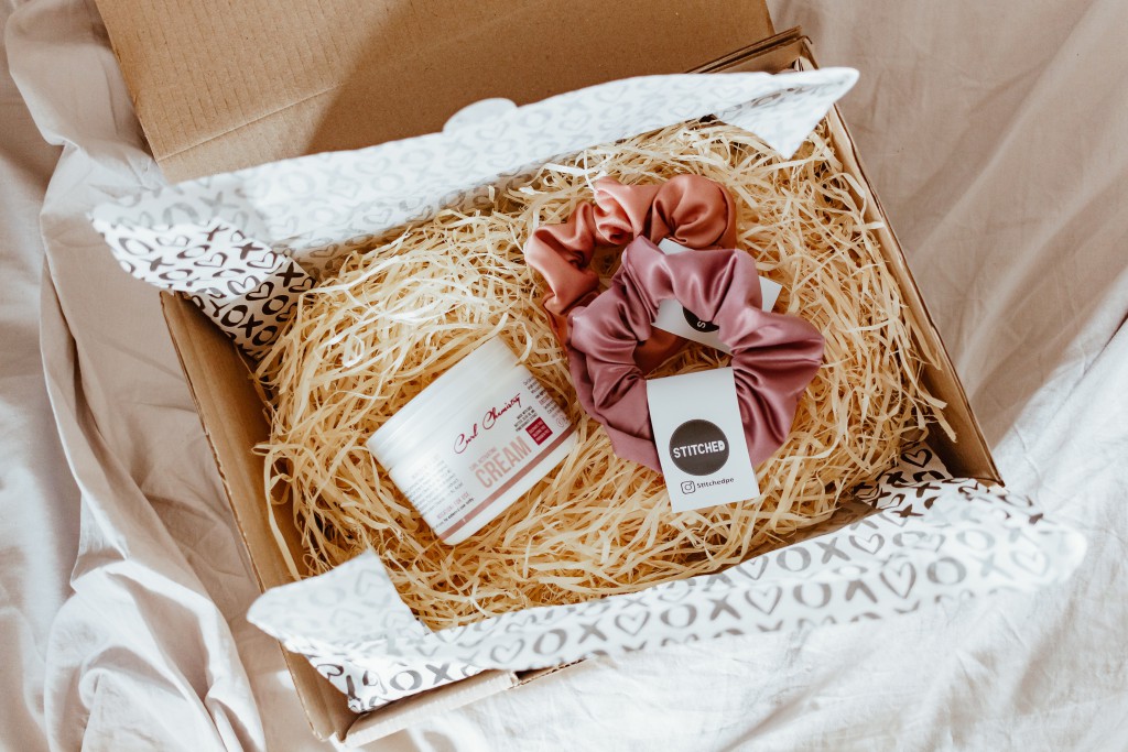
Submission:
<svg viewBox="0 0 1128 752">
<path fill-rule="evenodd" d="M 438 131 L 487 97 L 678 73 L 772 35 L 761 0 L 97 5 L 171 180 Z"/>
</svg>

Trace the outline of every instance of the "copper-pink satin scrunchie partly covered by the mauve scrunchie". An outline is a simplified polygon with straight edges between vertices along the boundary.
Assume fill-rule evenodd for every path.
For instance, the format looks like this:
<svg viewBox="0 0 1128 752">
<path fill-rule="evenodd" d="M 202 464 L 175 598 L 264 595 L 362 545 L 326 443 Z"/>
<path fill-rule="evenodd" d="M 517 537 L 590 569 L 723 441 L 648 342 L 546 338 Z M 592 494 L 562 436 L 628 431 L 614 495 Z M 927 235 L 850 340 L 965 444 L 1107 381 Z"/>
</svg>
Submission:
<svg viewBox="0 0 1128 752">
<path fill-rule="evenodd" d="M 636 237 L 670 238 L 687 248 L 734 248 L 735 210 L 729 192 L 697 175 L 679 175 L 662 185 L 623 185 L 596 180 L 592 203 L 580 204 L 564 224 L 537 228 L 525 245 L 529 266 L 548 284 L 543 306 L 561 343 L 567 340 L 567 315 L 599 292 L 591 259 L 601 247 L 620 247 Z M 638 344 L 634 357 L 644 373 L 673 355 L 685 339 L 658 330 Z"/>
</svg>

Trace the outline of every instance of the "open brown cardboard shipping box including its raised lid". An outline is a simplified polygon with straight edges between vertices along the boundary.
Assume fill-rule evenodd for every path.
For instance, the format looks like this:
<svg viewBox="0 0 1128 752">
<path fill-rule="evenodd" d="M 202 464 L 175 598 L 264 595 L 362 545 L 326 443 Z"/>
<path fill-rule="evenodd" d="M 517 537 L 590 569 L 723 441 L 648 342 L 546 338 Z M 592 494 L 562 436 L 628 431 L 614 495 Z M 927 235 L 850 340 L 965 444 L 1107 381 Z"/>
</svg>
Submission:
<svg viewBox="0 0 1128 752">
<path fill-rule="evenodd" d="M 169 180 L 434 131 L 487 97 L 525 104 L 636 74 L 814 64 L 797 29 L 773 34 L 763 2 L 483 2 L 457 12 L 441 2 L 400 8 L 355 0 L 98 6 Z M 944 415 L 958 440 L 934 435 L 933 448 L 953 474 L 997 483 L 963 388 L 837 109 L 828 123 L 839 158 L 865 193 L 866 220 L 882 224 L 878 239 L 925 345 L 941 354 L 941 366 L 929 369 L 925 382 L 948 404 Z M 266 517 L 263 460 L 252 451 L 268 437 L 259 392 L 235 346 L 194 306 L 168 294 L 162 301 L 259 587 L 290 582 Z M 301 561 L 290 516 L 276 519 Z M 314 732 L 350 744 L 554 671 L 490 671 L 355 716 L 303 657 L 283 653 Z"/>
</svg>

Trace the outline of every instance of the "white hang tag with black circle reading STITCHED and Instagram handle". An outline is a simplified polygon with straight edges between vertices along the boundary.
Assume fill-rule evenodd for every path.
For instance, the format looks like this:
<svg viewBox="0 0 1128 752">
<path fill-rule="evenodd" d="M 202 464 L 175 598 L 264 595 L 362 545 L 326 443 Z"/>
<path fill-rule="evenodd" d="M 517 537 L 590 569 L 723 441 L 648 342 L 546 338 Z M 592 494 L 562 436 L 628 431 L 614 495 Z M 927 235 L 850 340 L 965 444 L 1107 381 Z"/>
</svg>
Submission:
<svg viewBox="0 0 1128 752">
<path fill-rule="evenodd" d="M 760 495 L 731 368 L 650 379 L 646 401 L 675 512 Z"/>
</svg>

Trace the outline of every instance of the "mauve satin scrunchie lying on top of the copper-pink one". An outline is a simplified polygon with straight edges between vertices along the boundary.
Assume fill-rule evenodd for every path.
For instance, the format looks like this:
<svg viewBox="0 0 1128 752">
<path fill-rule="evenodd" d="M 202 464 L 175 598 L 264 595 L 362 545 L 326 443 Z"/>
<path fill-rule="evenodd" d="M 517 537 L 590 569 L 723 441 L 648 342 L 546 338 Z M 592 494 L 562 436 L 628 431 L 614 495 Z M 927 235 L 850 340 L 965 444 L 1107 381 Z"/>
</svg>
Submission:
<svg viewBox="0 0 1128 752">
<path fill-rule="evenodd" d="M 634 350 L 669 298 L 717 325 L 732 348 L 748 454 L 752 465 L 763 462 L 791 431 L 799 398 L 822 363 L 822 336 L 799 317 L 760 310 L 756 262 L 741 250 L 667 256 L 646 238 L 627 246 L 610 286 L 569 317 L 580 402 L 603 424 L 616 454 L 661 469 Z"/>
</svg>

